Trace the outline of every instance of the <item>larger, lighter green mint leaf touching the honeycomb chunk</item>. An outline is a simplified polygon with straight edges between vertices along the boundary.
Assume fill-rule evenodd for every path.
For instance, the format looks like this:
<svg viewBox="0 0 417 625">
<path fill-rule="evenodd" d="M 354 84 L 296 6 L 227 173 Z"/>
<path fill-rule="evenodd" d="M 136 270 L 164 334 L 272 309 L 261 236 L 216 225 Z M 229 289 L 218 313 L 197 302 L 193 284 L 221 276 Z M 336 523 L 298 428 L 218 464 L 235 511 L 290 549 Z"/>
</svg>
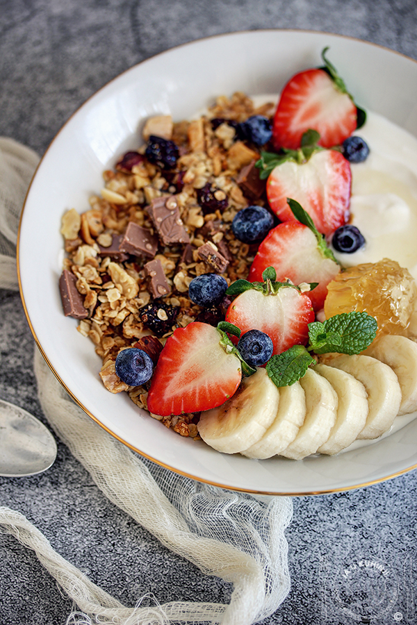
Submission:
<svg viewBox="0 0 417 625">
<path fill-rule="evenodd" d="M 377 322 L 368 313 L 342 313 L 309 324 L 309 350 L 315 353 L 361 353 L 375 339 Z"/>
</svg>

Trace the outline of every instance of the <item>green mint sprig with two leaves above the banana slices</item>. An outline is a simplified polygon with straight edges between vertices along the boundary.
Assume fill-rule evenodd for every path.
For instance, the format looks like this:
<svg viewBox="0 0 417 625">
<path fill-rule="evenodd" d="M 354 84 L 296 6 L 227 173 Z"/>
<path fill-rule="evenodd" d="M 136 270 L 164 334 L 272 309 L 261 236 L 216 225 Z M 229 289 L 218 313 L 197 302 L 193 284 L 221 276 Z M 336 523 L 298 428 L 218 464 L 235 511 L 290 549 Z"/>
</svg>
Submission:
<svg viewBox="0 0 417 625">
<path fill-rule="evenodd" d="M 361 353 L 375 339 L 377 322 L 368 313 L 341 313 L 325 322 L 309 324 L 309 345 L 294 345 L 272 356 L 266 371 L 272 382 L 280 386 L 294 384 L 306 374 L 310 365 L 316 363 L 310 352 Z"/>
</svg>

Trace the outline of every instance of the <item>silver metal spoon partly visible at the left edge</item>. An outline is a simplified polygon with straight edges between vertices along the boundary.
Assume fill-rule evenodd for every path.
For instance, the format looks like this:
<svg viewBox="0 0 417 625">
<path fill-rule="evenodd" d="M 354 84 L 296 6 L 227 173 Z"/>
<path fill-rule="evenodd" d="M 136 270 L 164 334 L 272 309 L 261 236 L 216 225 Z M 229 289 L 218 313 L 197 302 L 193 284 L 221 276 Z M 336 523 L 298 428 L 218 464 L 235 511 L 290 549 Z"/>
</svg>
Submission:
<svg viewBox="0 0 417 625">
<path fill-rule="evenodd" d="M 44 424 L 23 408 L 0 399 L 0 476 L 42 473 L 55 458 L 56 442 Z"/>
</svg>

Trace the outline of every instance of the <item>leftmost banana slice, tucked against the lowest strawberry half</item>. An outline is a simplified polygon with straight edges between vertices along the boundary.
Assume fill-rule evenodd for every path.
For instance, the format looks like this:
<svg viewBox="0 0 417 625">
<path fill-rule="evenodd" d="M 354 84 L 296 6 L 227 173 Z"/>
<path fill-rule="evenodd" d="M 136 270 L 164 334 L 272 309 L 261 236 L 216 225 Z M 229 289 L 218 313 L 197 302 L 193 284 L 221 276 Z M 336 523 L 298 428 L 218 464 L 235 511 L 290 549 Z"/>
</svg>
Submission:
<svg viewBox="0 0 417 625">
<path fill-rule="evenodd" d="M 279 390 L 265 369 L 243 378 L 240 389 L 222 406 L 202 412 L 202 439 L 224 453 L 245 451 L 259 441 L 277 415 Z"/>
</svg>

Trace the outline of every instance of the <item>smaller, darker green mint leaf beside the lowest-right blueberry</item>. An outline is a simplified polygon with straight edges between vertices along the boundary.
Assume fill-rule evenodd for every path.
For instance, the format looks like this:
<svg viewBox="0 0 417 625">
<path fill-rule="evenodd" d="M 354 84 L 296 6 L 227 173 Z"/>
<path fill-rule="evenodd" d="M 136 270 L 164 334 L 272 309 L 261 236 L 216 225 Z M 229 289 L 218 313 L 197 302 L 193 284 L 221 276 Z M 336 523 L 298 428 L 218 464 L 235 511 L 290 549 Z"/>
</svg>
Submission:
<svg viewBox="0 0 417 625">
<path fill-rule="evenodd" d="M 272 356 L 266 363 L 266 372 L 275 386 L 291 386 L 315 362 L 304 345 L 293 345 L 290 349 Z"/>
</svg>

